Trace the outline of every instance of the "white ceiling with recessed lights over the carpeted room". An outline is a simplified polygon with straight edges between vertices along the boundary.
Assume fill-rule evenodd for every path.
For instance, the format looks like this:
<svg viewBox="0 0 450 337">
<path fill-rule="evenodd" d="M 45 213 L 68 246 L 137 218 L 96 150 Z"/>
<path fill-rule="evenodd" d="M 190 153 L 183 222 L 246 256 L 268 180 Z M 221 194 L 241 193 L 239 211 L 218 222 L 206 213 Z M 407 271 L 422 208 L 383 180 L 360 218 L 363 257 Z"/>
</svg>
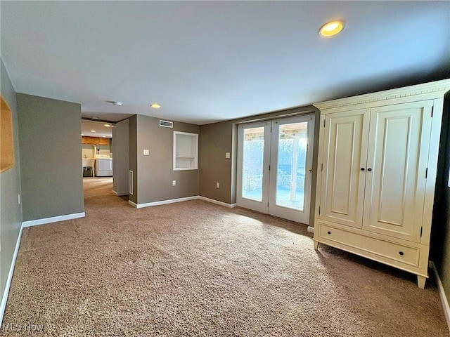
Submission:
<svg viewBox="0 0 450 337">
<path fill-rule="evenodd" d="M 89 118 L 207 124 L 450 77 L 449 1 L 0 6 L 15 91 L 81 103 Z M 319 38 L 333 19 L 345 20 L 344 31 Z"/>
</svg>

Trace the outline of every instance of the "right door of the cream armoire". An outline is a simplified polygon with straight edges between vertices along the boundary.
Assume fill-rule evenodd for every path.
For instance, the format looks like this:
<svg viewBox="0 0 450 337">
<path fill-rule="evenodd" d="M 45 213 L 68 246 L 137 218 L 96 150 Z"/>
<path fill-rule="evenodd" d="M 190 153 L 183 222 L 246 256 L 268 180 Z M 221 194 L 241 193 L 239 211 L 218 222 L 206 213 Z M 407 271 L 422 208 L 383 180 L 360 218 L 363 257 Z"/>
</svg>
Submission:
<svg viewBox="0 0 450 337">
<path fill-rule="evenodd" d="M 432 101 L 371 110 L 364 228 L 420 242 Z"/>
</svg>

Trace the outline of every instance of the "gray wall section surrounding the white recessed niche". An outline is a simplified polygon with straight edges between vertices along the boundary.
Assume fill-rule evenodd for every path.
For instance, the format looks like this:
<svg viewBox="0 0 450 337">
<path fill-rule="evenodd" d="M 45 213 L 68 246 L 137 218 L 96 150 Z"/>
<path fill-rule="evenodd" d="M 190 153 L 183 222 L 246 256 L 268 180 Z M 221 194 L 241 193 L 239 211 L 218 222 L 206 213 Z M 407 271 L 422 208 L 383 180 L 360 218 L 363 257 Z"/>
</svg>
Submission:
<svg viewBox="0 0 450 337">
<path fill-rule="evenodd" d="M 137 115 L 137 141 L 134 143 L 132 124 L 134 122 L 130 120 L 130 169 L 135 167 L 131 158 L 136 155 L 137 174 L 134 173 L 134 178 L 137 180 L 135 195 L 130 200 L 136 204 L 146 204 L 198 195 L 198 170 L 173 170 L 173 139 L 174 131 L 199 133 L 200 127 L 174 121 L 174 128 L 163 128 L 160 119 Z M 131 147 L 136 150 L 131 150 Z M 144 156 L 144 149 L 150 150 L 150 155 Z M 172 186 L 172 180 L 176 180 L 176 186 Z"/>
</svg>

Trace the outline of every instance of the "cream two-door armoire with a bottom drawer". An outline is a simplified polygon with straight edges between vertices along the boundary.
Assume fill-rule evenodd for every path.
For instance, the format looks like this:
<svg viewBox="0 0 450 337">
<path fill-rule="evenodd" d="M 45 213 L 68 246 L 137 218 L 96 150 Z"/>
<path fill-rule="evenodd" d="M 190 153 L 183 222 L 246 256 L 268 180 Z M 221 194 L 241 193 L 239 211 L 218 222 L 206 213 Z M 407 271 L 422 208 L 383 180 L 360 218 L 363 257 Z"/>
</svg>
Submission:
<svg viewBox="0 0 450 337">
<path fill-rule="evenodd" d="M 443 96 L 450 80 L 315 104 L 319 243 L 428 278 Z"/>
</svg>

